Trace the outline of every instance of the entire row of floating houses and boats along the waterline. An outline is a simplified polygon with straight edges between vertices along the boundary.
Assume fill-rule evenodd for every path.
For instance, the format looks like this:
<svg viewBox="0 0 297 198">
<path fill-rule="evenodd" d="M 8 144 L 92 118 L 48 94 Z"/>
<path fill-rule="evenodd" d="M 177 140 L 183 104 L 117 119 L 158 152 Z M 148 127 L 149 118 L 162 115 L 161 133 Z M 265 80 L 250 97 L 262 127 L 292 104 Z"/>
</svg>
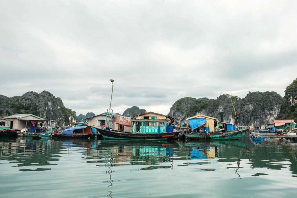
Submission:
<svg viewBox="0 0 297 198">
<path fill-rule="evenodd" d="M 112 140 L 238 140 L 249 133 L 252 141 L 265 139 L 292 139 L 296 141 L 295 120 L 274 120 L 262 126 L 240 126 L 217 122 L 206 115 L 189 117 L 180 125 L 173 125 L 174 117 L 146 112 L 133 117 L 102 114 L 75 122 L 71 116 L 69 126 L 53 126 L 47 120 L 33 114 L 16 114 L 2 117 L 0 137 L 24 136 L 37 139 L 112 139 Z"/>
</svg>

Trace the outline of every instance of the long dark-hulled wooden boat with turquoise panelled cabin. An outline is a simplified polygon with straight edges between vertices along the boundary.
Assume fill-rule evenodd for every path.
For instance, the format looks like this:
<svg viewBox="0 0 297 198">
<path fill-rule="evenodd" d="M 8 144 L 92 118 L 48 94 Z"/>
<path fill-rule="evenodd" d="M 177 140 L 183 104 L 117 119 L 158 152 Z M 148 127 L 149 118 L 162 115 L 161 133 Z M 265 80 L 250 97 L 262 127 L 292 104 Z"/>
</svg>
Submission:
<svg viewBox="0 0 297 198">
<path fill-rule="evenodd" d="M 178 136 L 173 131 L 173 126 L 167 125 L 166 119 L 162 120 L 131 120 L 132 132 L 117 131 L 100 126 L 92 126 L 103 136 L 104 139 L 142 139 L 142 140 L 166 140 Z"/>
</svg>

